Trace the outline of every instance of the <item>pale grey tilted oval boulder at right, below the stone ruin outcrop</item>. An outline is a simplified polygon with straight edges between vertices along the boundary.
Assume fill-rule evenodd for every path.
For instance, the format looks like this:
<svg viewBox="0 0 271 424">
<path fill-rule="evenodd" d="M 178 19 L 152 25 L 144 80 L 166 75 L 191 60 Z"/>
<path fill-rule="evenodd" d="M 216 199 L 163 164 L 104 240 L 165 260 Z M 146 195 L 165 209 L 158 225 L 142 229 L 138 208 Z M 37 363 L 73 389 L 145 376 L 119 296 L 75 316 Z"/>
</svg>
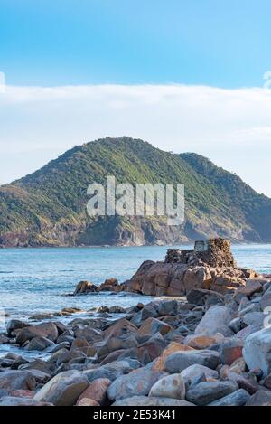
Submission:
<svg viewBox="0 0 271 424">
<path fill-rule="evenodd" d="M 216 334 L 223 325 L 229 325 L 233 318 L 232 311 L 226 306 L 210 306 L 205 316 L 195 329 L 195 334 Z"/>
</svg>

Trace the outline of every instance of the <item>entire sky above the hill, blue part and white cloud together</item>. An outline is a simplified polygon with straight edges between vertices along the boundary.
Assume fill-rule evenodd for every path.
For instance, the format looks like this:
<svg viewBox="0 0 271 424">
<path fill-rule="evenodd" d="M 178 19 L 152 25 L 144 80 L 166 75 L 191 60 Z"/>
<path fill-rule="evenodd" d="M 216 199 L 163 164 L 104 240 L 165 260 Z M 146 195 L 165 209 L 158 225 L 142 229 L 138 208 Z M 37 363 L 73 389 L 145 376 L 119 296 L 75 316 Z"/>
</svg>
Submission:
<svg viewBox="0 0 271 424">
<path fill-rule="evenodd" d="M 270 16 L 270 0 L 0 0 L 0 184 L 126 135 L 271 197 Z"/>
</svg>

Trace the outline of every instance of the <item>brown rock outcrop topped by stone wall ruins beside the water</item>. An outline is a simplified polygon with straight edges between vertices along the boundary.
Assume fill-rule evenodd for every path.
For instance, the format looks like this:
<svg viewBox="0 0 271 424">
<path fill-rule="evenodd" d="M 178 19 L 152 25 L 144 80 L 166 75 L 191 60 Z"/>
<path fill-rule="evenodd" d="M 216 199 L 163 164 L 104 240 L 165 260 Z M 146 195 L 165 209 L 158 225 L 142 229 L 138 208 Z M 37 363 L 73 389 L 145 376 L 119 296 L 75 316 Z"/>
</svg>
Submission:
<svg viewBox="0 0 271 424">
<path fill-rule="evenodd" d="M 145 261 L 126 282 L 126 291 L 147 296 L 185 296 L 192 289 L 222 295 L 245 287 L 247 276 L 257 276 L 235 266 L 230 243 L 223 239 L 196 241 L 194 250 L 167 251 L 164 262 Z"/>
</svg>

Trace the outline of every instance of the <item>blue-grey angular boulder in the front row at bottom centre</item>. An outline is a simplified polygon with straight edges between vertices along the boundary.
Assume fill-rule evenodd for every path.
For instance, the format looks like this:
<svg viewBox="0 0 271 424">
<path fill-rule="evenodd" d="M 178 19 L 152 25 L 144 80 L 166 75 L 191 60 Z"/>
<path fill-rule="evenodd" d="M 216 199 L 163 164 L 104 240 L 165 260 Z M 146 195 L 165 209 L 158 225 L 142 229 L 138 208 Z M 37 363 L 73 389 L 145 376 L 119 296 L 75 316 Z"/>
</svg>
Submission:
<svg viewBox="0 0 271 424">
<path fill-rule="evenodd" d="M 148 395 L 154 383 L 165 375 L 165 372 L 154 372 L 145 368 L 130 372 L 112 382 L 107 390 L 108 398 L 109 400 L 120 400 L 136 395 Z"/>
</svg>

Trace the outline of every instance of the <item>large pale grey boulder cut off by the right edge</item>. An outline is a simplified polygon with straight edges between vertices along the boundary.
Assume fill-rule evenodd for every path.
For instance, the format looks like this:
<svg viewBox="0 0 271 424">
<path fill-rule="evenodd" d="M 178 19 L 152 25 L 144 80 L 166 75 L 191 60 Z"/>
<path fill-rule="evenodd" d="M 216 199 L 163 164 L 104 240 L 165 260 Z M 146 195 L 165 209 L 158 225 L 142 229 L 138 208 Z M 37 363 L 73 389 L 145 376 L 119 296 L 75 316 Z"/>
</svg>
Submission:
<svg viewBox="0 0 271 424">
<path fill-rule="evenodd" d="M 271 372 L 271 327 L 250 334 L 246 338 L 243 356 L 249 370 L 260 368 L 264 377 Z"/>
</svg>

